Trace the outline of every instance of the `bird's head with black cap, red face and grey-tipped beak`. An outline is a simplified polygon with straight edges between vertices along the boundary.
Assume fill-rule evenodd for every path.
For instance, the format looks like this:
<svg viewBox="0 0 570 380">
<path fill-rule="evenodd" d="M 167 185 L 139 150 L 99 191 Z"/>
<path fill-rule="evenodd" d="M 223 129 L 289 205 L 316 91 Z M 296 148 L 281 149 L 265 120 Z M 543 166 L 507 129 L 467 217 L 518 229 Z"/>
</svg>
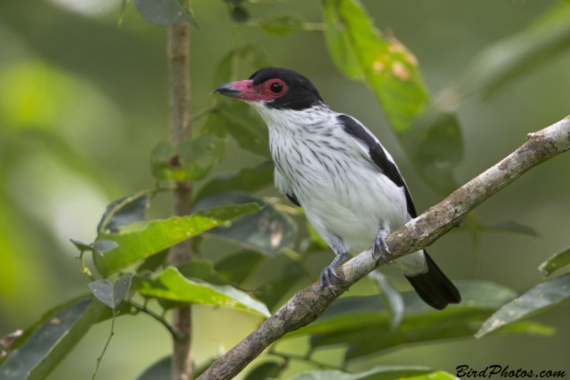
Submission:
<svg viewBox="0 0 570 380">
<path fill-rule="evenodd" d="M 313 83 L 288 68 L 261 68 L 247 81 L 222 84 L 214 93 L 221 93 L 244 101 L 265 102 L 264 106 L 278 109 L 304 110 L 323 99 Z"/>
</svg>

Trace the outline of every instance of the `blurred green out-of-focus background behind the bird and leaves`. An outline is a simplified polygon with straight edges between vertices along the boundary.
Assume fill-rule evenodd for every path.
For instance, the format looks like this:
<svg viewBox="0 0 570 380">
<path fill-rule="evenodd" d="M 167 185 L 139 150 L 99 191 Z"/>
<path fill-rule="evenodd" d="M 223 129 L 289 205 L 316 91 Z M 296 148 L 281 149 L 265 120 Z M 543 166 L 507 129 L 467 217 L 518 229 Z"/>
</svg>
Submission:
<svg viewBox="0 0 570 380">
<path fill-rule="evenodd" d="M 432 93 L 446 88 L 484 46 L 524 29 L 556 1 L 364 0 L 378 28 L 391 30 L 420 62 Z M 222 0 L 194 0 L 201 29 L 192 29 L 192 110 L 212 101 L 212 72 L 232 47 L 227 6 Z M 319 2 L 287 0 L 248 4 L 263 18 L 293 10 L 306 21 L 321 21 Z M 167 140 L 166 30 L 148 24 L 132 5 L 123 25 L 120 0 L 0 1 L 0 337 L 24 329 L 42 312 L 86 294 L 88 279 L 78 271 L 70 237 L 92 241 L 95 225 L 110 201 L 152 188 L 150 150 Z M 321 32 L 284 37 L 240 26 L 243 41 L 259 41 L 274 66 L 307 76 L 326 103 L 361 120 L 394 156 L 418 211 L 440 201 L 415 173 L 398 145 L 373 92 L 344 78 L 328 57 Z M 472 98 L 457 109 L 465 157 L 457 170 L 470 180 L 497 163 L 527 133 L 570 113 L 570 50 L 541 63 L 491 98 Z M 250 74 L 240 68 L 240 78 Z M 196 128 L 199 123 L 196 124 Z M 226 158 L 210 175 L 263 161 L 229 144 Z M 483 222 L 516 220 L 539 237 L 482 235 L 475 249 L 461 232 L 446 235 L 432 257 L 453 279 L 484 279 L 516 289 L 542 279 L 537 266 L 569 245 L 570 155 L 524 175 L 478 207 Z M 269 188 L 261 195 L 277 195 Z M 152 217 L 168 215 L 165 195 L 153 202 Z M 216 251 L 230 249 L 207 241 Z M 315 263 L 319 270 L 332 255 Z M 269 269 L 268 269 L 269 270 Z M 400 290 L 410 289 L 398 273 L 385 270 Z M 308 282 L 299 283 L 299 287 Z M 367 280 L 351 295 L 370 294 Z M 198 362 L 227 350 L 259 324 L 259 317 L 229 309 L 197 306 L 195 356 Z M 492 336 L 402 348 L 350 368 L 373 364 L 418 364 L 455 373 L 499 364 L 511 369 L 570 372 L 569 304 L 537 319 L 556 328 L 554 337 Z M 120 318 L 99 370 L 101 379 L 133 379 L 145 366 L 170 353 L 170 336 L 145 315 Z M 85 379 L 108 335 L 108 324 L 86 339 L 50 379 Z M 303 342 L 289 344 L 296 349 Z M 321 359 L 334 362 L 340 351 Z M 284 378 L 314 369 L 296 361 Z"/>
</svg>

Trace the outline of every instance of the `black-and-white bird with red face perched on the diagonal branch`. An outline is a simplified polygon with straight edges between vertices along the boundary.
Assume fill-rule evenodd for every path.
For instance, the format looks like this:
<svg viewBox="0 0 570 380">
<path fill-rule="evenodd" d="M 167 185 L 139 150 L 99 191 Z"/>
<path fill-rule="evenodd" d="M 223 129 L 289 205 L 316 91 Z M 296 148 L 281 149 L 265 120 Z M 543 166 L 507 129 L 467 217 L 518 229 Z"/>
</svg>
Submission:
<svg viewBox="0 0 570 380">
<path fill-rule="evenodd" d="M 213 93 L 248 103 L 269 128 L 276 188 L 336 254 L 319 277 L 323 290 L 335 294 L 335 269 L 350 252 L 372 247 L 376 265 L 391 261 L 431 307 L 461 302 L 425 250 L 389 260 L 386 237 L 418 214 L 398 166 L 366 126 L 333 111 L 309 79 L 288 68 L 261 68 Z"/>
</svg>

